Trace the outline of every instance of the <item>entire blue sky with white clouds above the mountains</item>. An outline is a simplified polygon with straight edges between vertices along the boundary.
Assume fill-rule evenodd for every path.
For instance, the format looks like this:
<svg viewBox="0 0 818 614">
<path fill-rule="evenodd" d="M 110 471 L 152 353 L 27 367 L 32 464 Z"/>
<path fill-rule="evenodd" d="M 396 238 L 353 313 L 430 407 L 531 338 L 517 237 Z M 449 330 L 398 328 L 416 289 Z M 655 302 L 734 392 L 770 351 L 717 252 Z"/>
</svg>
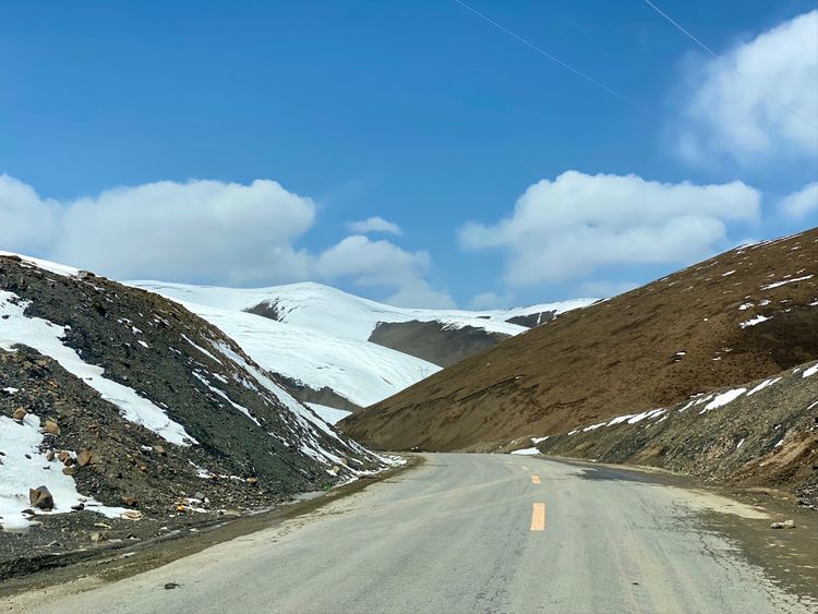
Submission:
<svg viewBox="0 0 818 614">
<path fill-rule="evenodd" d="M 726 1 L 658 1 L 721 59 L 641 0 L 468 4 L 647 110 L 452 0 L 4 2 L 0 173 L 10 186 L 0 185 L 0 215 L 10 224 L 5 234 L 0 229 L 0 249 L 71 257 L 118 277 L 316 279 L 404 304 L 490 306 L 609 293 L 737 241 L 818 225 L 811 192 L 794 214 L 780 204 L 818 180 L 810 125 L 818 124 L 818 29 L 807 22 L 797 31 L 806 37 L 802 52 L 779 53 L 777 45 L 797 38 L 789 32 L 756 40 L 790 27 L 814 2 L 747 1 L 738 10 Z M 796 61 L 784 61 L 786 53 Z M 771 56 L 784 60 L 758 60 Z M 732 110 L 745 107 L 744 116 Z M 724 128 L 724 117 L 735 125 Z M 579 176 L 558 181 L 566 171 Z M 664 188 L 627 182 L 629 174 Z M 213 224 L 200 224 L 197 202 L 183 194 L 192 179 L 218 192 Z M 219 190 L 255 179 L 309 202 L 290 210 L 266 190 L 261 204 Z M 515 203 L 543 180 L 530 210 L 515 216 Z M 159 181 L 181 192 L 139 190 Z M 725 188 L 711 201 L 709 191 L 678 192 L 685 181 L 741 181 L 747 190 Z M 132 198 L 110 193 L 123 186 Z M 616 206 L 609 189 L 623 207 L 616 221 L 596 210 Z M 678 205 L 662 213 L 665 196 Z M 175 201 L 165 206 L 161 198 Z M 679 198 L 695 210 L 685 213 Z M 189 208 L 167 218 L 178 200 Z M 246 228 L 224 221 L 231 207 L 252 208 L 237 215 Z M 640 225 L 640 207 L 660 213 Z M 137 209 L 145 216 L 141 241 L 132 242 L 140 253 L 120 253 L 117 232 Z M 55 221 L 26 221 L 33 212 Z M 88 222 L 82 212 L 109 221 Z M 192 234 L 191 257 L 170 267 L 177 252 L 160 243 L 172 237 L 154 238 L 152 228 L 187 225 L 185 216 L 197 229 L 183 233 Z M 348 224 L 373 216 L 400 234 L 351 241 Z M 43 234 L 48 225 L 52 238 Z M 282 227 L 265 242 L 265 232 Z M 109 230 L 110 241 L 88 246 Z M 660 253 L 651 233 L 682 233 L 690 249 Z M 75 244 L 62 244 L 65 237 Z M 584 246 L 572 250 L 560 241 L 566 237 Z M 624 250 L 623 238 L 634 245 L 643 239 L 643 252 Z M 234 261 L 233 242 L 244 246 Z M 221 268 L 209 266 L 208 244 Z M 154 245 L 152 262 L 143 252 Z M 589 253 L 597 248 L 616 255 Z"/>
</svg>

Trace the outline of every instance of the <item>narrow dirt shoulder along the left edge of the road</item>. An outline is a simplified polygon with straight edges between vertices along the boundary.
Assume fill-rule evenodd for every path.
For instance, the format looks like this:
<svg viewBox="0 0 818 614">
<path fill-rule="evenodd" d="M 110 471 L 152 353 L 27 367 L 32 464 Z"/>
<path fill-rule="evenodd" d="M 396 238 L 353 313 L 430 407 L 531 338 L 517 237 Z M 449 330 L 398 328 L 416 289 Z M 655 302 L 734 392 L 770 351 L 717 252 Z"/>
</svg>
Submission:
<svg viewBox="0 0 818 614">
<path fill-rule="evenodd" d="M 277 527 L 303 514 L 363 491 L 424 462 L 420 456 L 404 455 L 407 463 L 320 493 L 315 497 L 285 504 L 268 511 L 240 518 L 207 520 L 177 529 L 153 540 L 98 545 L 55 556 L 28 559 L 12 577 L 0 578 L 0 606 L 4 598 L 93 577 L 97 583 L 113 582 L 147 569 L 201 552 L 217 543 Z M 91 587 L 89 587 L 91 588 Z"/>
</svg>

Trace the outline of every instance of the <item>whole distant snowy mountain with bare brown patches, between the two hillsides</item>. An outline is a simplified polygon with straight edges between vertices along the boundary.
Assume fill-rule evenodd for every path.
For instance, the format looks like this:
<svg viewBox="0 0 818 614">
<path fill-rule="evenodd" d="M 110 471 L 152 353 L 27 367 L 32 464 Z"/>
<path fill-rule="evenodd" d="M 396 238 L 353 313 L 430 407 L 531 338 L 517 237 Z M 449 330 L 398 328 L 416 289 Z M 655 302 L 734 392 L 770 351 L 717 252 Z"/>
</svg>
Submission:
<svg viewBox="0 0 818 614">
<path fill-rule="evenodd" d="M 383 400 L 438 365 L 528 329 L 507 318 L 546 322 L 593 302 L 435 311 L 394 308 L 320 284 L 250 290 L 130 284 L 179 301 L 221 328 L 265 369 L 286 377 L 282 383 L 300 400 L 344 410 Z"/>
</svg>

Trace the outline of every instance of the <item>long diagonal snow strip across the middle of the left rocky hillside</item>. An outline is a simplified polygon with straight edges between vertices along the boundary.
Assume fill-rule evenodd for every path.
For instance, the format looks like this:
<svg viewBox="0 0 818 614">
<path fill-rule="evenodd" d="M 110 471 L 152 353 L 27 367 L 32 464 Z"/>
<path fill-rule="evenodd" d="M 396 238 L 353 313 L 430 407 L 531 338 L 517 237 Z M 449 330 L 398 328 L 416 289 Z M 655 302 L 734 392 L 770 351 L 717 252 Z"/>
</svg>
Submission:
<svg viewBox="0 0 818 614">
<path fill-rule="evenodd" d="M 12 300 L 17 301 L 17 304 L 12 303 Z M 116 405 L 125 420 L 142 424 L 173 444 L 183 446 L 199 443 L 184 431 L 184 426 L 170 420 L 148 399 L 139 396 L 132 388 L 104 377 L 103 368 L 85 363 L 73 349 L 62 345 L 62 326 L 23 315 L 27 304 L 20 301 L 16 294 L 0 290 L 0 313 L 9 316 L 0 326 L 0 348 L 11 350 L 15 344 L 29 346 L 51 357 L 69 373 L 97 390 L 105 400 Z"/>
</svg>

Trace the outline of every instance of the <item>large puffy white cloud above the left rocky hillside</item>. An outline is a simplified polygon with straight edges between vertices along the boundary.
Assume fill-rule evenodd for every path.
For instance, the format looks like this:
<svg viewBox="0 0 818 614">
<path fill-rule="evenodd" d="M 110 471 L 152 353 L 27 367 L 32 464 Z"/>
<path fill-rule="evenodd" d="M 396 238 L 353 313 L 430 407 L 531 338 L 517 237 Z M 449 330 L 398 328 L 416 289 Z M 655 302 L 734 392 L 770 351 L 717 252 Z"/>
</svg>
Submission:
<svg viewBox="0 0 818 614">
<path fill-rule="evenodd" d="M 68 203 L 49 257 L 120 279 L 293 280 L 315 205 L 275 181 L 160 181 Z"/>
</svg>

